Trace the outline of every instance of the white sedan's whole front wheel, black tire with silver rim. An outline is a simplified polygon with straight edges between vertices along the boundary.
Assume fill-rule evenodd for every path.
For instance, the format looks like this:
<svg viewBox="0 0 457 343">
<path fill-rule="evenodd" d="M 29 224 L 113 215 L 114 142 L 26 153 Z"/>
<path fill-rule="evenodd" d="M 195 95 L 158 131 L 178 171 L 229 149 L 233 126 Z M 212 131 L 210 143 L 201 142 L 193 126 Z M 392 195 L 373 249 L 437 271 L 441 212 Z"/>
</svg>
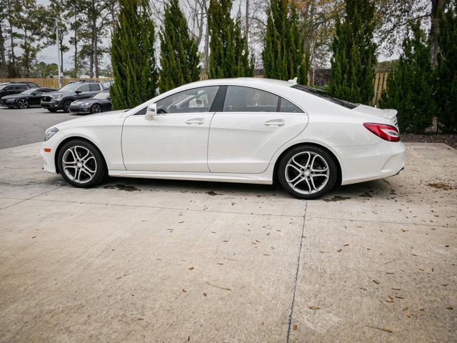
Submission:
<svg viewBox="0 0 457 343">
<path fill-rule="evenodd" d="M 61 176 L 74 187 L 94 187 L 106 176 L 106 166 L 99 150 L 80 139 L 61 147 L 57 163 Z"/>
</svg>

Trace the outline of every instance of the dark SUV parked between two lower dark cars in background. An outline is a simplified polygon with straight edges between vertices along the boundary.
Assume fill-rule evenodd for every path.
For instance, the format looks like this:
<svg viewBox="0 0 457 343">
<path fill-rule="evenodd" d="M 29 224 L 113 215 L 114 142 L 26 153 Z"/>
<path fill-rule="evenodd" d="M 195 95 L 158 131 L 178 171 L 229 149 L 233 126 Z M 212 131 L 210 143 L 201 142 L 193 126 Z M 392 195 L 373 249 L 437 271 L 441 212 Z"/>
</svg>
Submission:
<svg viewBox="0 0 457 343">
<path fill-rule="evenodd" d="M 48 111 L 56 112 L 63 109 L 68 112 L 70 104 L 75 100 L 89 99 L 91 96 L 101 92 L 103 86 L 96 81 L 74 81 L 63 86 L 59 91 L 54 91 L 41 96 L 41 107 Z"/>
</svg>

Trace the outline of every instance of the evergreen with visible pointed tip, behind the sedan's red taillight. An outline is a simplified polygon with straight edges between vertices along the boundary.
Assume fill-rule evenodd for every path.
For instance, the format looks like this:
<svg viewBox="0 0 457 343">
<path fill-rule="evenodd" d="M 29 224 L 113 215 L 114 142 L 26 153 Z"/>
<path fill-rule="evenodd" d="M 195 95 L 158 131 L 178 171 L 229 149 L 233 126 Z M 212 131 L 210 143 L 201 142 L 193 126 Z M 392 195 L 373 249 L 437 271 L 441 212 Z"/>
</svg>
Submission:
<svg viewBox="0 0 457 343">
<path fill-rule="evenodd" d="M 431 126 L 435 113 L 430 48 L 419 21 L 412 22 L 408 31 L 398 66 L 389 74 L 379 104 L 398 111 L 402 131 L 420 133 Z"/>
</svg>

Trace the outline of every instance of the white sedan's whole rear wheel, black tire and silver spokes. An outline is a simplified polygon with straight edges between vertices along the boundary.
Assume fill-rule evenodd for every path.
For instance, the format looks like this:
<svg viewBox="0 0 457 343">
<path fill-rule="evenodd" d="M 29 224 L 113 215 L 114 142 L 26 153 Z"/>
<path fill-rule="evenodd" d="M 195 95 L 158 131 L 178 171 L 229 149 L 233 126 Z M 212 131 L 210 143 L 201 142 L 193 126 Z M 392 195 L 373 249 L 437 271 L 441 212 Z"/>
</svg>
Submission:
<svg viewBox="0 0 457 343">
<path fill-rule="evenodd" d="M 296 156 L 297 154 L 298 156 Z M 316 157 L 316 166 L 314 167 L 317 169 L 322 169 L 322 172 L 316 172 L 316 169 L 310 169 L 311 158 L 316 155 L 318 156 Z M 308 156 L 310 156 L 309 159 Z M 297 159 L 303 158 L 304 162 L 298 161 L 298 164 L 293 164 L 293 166 L 291 166 L 288 164 L 288 162 L 291 161 L 293 157 L 295 161 Z M 326 183 L 326 177 L 321 176 L 322 174 L 327 174 L 325 164 L 327 164 L 328 168 L 328 178 Z M 299 168 L 298 165 L 305 168 Z M 294 168 L 294 166 L 297 168 Z M 298 186 L 298 184 L 300 184 L 298 187 L 296 187 L 296 189 L 293 189 L 293 187 L 289 185 L 289 182 L 286 179 L 286 169 L 289 177 L 289 182 L 291 182 L 293 186 Z M 293 174 L 294 172 L 296 174 Z M 293 197 L 298 199 L 317 199 L 322 197 L 323 194 L 329 192 L 335 186 L 336 180 L 338 179 L 338 165 L 336 164 L 333 156 L 331 156 L 331 154 L 329 154 L 326 149 L 323 149 L 319 146 L 303 144 L 301 146 L 296 146 L 282 156 L 281 161 L 279 161 L 278 164 L 277 174 L 281 187 L 286 192 L 288 192 L 288 194 L 291 194 Z M 298 180 L 298 184 L 295 184 L 295 181 L 293 181 L 295 178 L 298 178 L 296 179 Z M 311 179 L 315 181 L 311 182 Z M 318 184 L 318 186 L 315 186 L 315 184 Z M 320 187 L 319 184 L 322 187 Z M 309 193 L 303 193 L 306 191 Z"/>
</svg>

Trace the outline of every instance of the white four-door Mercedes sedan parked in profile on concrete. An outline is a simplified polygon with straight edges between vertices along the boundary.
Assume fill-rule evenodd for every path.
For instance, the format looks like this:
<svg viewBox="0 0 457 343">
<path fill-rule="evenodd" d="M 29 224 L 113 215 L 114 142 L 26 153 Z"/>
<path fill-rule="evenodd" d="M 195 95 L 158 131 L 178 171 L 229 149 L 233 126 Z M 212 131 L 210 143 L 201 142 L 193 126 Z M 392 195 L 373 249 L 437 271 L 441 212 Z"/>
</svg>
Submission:
<svg viewBox="0 0 457 343">
<path fill-rule="evenodd" d="M 74 187 L 106 175 L 272 184 L 300 199 L 336 184 L 398 174 L 405 146 L 396 111 L 334 99 L 292 81 L 186 84 L 128 111 L 46 131 L 46 172 Z"/>
</svg>

